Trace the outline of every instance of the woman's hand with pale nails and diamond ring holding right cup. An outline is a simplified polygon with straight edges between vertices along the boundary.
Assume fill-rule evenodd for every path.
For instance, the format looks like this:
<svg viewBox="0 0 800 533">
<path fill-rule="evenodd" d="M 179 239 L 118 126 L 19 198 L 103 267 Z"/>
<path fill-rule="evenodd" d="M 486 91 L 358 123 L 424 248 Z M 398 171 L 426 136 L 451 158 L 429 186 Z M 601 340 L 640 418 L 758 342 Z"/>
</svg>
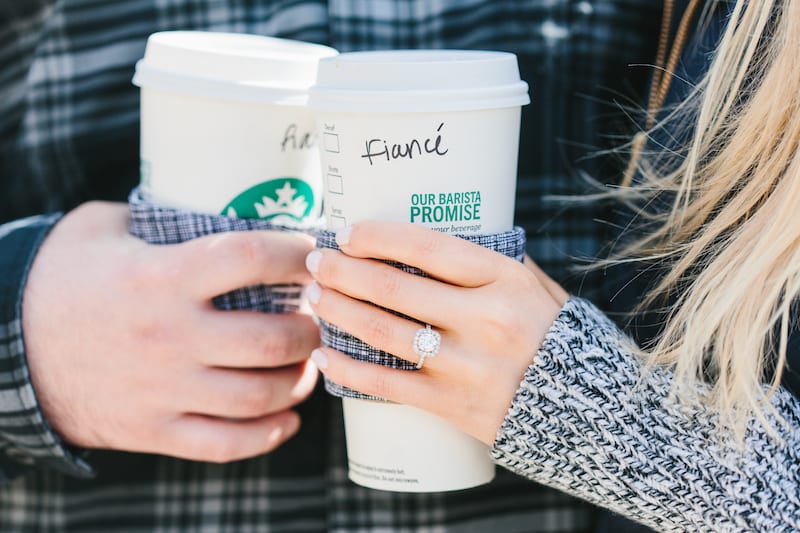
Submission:
<svg viewBox="0 0 800 533">
<path fill-rule="evenodd" d="M 402 223 L 361 223 L 337 234 L 342 252 L 314 251 L 318 283 L 308 298 L 320 318 L 364 342 L 417 363 L 420 324 L 441 348 L 418 372 L 364 363 L 330 348 L 312 358 L 333 381 L 435 413 L 487 444 L 494 441 L 525 370 L 567 299 L 538 267 L 468 241 Z M 405 273 L 380 259 L 420 268 Z"/>
</svg>

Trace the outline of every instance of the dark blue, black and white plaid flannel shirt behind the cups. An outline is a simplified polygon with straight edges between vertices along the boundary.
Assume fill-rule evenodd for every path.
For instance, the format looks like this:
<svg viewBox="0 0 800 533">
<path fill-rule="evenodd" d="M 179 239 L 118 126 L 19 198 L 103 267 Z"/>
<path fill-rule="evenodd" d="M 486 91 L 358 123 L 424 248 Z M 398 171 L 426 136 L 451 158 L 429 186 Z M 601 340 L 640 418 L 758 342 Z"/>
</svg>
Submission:
<svg viewBox="0 0 800 533">
<path fill-rule="evenodd" d="M 341 51 L 477 48 L 515 52 L 531 84 L 523 111 L 516 223 L 548 271 L 594 255 L 602 206 L 561 213 L 587 157 L 630 125 L 660 19 L 655 0 L 18 0 L 0 1 L 0 531 L 581 531 L 577 500 L 499 471 L 458 493 L 395 494 L 346 479 L 341 408 L 324 393 L 300 408 L 300 433 L 274 453 L 213 465 L 79 451 L 36 403 L 21 296 L 57 215 L 90 199 L 122 201 L 138 180 L 138 91 L 146 37 L 204 29 L 303 39 Z M 573 292 L 591 277 L 560 279 Z M 597 300 L 597 296 L 595 295 Z M 602 301 L 602 297 L 599 298 Z M 89 466 L 91 465 L 91 466 Z M 91 477 L 91 479 L 85 479 Z M 12 481 L 13 479 L 13 481 Z"/>
</svg>

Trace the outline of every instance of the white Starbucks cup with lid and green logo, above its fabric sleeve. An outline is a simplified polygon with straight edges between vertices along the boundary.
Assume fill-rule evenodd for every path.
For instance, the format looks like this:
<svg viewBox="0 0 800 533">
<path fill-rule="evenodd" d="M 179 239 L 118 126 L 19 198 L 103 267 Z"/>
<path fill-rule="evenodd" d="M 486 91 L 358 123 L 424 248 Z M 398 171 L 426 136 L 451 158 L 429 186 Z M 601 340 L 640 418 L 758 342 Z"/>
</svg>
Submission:
<svg viewBox="0 0 800 533">
<path fill-rule="evenodd" d="M 213 32 L 150 36 L 141 87 L 141 183 L 157 204 L 306 226 L 322 206 L 308 88 L 326 46 Z"/>
</svg>

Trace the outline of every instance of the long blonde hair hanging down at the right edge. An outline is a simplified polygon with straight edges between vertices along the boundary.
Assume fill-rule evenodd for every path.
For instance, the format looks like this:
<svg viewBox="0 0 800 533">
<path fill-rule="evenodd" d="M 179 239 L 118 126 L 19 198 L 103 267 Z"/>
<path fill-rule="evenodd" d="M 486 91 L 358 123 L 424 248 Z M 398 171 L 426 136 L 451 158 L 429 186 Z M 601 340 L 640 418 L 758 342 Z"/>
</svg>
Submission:
<svg viewBox="0 0 800 533">
<path fill-rule="evenodd" d="M 740 435 L 779 386 L 800 295 L 799 52 L 800 0 L 737 0 L 707 74 L 651 130 L 684 124 L 688 143 L 643 154 L 620 192 L 650 230 L 623 253 L 668 265 L 644 301 L 674 302 L 651 361 L 681 392 L 710 376 Z"/>
</svg>

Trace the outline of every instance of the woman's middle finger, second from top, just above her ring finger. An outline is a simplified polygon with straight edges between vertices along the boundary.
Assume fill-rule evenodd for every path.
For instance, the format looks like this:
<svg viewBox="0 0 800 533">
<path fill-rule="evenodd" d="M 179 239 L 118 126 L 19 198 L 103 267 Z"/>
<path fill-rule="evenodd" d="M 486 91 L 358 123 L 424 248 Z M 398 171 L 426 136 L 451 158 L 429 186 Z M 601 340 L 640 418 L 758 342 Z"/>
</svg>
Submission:
<svg viewBox="0 0 800 533">
<path fill-rule="evenodd" d="M 463 320 L 464 289 L 403 272 L 380 261 L 357 259 L 336 250 L 315 250 L 307 264 L 314 278 L 356 300 L 366 300 L 420 322 L 455 329 Z"/>
</svg>

